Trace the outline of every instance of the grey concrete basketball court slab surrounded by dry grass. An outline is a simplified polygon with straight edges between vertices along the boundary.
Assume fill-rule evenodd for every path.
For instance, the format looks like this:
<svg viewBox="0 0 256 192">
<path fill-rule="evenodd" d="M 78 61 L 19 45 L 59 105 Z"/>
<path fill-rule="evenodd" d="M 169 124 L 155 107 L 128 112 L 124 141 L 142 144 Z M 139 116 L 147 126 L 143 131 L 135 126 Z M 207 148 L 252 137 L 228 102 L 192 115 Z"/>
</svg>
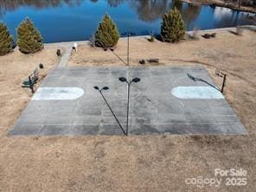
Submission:
<svg viewBox="0 0 256 192">
<path fill-rule="evenodd" d="M 200 66 L 57 67 L 42 82 L 42 90 L 76 87 L 83 90 L 83 94 L 72 98 L 40 99 L 35 93 L 35 99 L 31 99 L 9 134 L 122 135 L 104 100 L 93 88 L 109 86 L 110 89 L 103 93 L 125 128 L 127 90 L 126 84 L 118 80 L 121 76 L 141 79 L 131 86 L 129 134 L 246 134 L 226 99 L 220 97 L 220 93 L 215 98 L 212 90 L 211 96 L 207 97 L 208 91 L 204 90 L 210 86 L 189 79 L 187 74 L 214 85 L 208 72 Z M 172 94 L 174 88 L 186 86 L 200 87 L 202 98 L 207 99 L 181 99 Z M 69 91 L 58 89 L 58 93 Z"/>
</svg>

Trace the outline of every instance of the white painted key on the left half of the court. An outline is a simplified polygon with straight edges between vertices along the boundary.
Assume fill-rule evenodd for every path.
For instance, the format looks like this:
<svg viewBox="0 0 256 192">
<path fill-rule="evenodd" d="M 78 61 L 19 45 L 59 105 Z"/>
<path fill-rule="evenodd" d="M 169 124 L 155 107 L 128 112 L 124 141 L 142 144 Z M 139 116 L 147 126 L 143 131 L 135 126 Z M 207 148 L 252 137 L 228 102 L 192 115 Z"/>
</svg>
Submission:
<svg viewBox="0 0 256 192">
<path fill-rule="evenodd" d="M 71 100 L 83 94 L 84 90 L 78 87 L 40 87 L 32 100 Z"/>
</svg>

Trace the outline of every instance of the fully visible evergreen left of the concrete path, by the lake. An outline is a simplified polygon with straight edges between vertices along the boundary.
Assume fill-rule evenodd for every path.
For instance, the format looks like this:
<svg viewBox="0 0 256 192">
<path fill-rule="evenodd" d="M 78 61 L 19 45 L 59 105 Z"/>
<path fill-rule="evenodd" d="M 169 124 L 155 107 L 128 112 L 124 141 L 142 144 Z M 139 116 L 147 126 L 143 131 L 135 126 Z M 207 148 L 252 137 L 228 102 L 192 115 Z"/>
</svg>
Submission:
<svg viewBox="0 0 256 192">
<path fill-rule="evenodd" d="M 24 54 L 32 54 L 43 48 L 42 35 L 29 18 L 26 18 L 17 29 L 17 45 Z"/>
</svg>

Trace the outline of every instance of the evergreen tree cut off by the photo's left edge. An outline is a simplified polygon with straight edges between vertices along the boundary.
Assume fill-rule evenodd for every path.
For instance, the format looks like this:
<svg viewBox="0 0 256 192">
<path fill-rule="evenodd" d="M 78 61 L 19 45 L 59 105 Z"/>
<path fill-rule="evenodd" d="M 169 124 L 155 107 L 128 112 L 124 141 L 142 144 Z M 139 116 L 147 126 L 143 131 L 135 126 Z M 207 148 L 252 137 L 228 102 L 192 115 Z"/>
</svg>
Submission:
<svg viewBox="0 0 256 192">
<path fill-rule="evenodd" d="M 0 22 L 0 55 L 8 54 L 13 50 L 14 41 L 7 26 Z"/>
</svg>

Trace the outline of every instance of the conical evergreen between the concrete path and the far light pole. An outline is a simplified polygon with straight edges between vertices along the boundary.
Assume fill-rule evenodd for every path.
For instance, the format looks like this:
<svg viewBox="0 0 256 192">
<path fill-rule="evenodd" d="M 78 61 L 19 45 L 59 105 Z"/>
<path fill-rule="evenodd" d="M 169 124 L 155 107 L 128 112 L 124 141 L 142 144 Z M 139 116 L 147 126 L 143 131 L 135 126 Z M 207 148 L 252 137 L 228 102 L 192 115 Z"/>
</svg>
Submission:
<svg viewBox="0 0 256 192">
<path fill-rule="evenodd" d="M 95 33 L 95 44 L 101 48 L 112 48 L 118 44 L 118 39 L 118 28 L 111 17 L 106 14 Z"/>
</svg>

